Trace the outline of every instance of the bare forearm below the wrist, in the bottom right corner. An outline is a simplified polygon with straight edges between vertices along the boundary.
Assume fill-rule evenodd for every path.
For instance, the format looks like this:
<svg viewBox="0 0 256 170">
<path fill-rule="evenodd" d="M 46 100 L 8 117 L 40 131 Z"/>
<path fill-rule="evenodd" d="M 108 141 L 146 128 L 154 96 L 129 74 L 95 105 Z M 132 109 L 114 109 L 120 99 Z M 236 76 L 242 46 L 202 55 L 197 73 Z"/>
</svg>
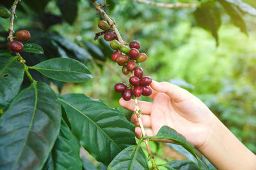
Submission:
<svg viewBox="0 0 256 170">
<path fill-rule="evenodd" d="M 256 156 L 218 118 L 198 150 L 217 169 L 256 169 Z"/>
</svg>

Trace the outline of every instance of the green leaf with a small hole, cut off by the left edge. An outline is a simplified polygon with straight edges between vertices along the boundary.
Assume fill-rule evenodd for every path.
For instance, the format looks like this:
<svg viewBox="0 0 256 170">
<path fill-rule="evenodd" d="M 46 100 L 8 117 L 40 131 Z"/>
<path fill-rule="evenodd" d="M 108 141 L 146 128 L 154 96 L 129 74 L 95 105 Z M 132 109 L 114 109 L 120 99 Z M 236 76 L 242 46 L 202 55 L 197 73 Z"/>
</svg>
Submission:
<svg viewBox="0 0 256 170">
<path fill-rule="evenodd" d="M 0 110 L 4 110 L 19 92 L 24 65 L 7 53 L 0 55 Z"/>
</svg>

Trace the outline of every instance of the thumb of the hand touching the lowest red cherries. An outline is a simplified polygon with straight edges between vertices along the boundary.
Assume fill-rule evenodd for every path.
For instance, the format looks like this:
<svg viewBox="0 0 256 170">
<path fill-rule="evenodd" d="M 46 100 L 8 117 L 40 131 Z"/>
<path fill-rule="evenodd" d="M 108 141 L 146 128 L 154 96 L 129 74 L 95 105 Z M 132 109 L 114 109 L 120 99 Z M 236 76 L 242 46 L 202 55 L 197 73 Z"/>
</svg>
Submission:
<svg viewBox="0 0 256 170">
<path fill-rule="evenodd" d="M 150 87 L 152 87 L 152 89 L 154 89 L 156 92 L 163 92 L 167 94 L 176 102 L 184 101 L 192 96 L 192 94 L 190 94 L 187 90 L 166 81 L 161 83 L 158 83 L 157 81 L 152 81 Z"/>
</svg>

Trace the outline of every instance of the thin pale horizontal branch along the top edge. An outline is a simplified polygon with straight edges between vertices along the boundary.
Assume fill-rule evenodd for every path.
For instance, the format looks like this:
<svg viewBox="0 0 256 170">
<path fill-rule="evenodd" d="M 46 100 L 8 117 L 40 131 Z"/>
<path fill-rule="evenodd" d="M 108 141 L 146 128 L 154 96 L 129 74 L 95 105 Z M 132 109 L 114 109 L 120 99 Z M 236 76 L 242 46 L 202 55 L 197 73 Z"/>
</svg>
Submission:
<svg viewBox="0 0 256 170">
<path fill-rule="evenodd" d="M 175 3 L 175 4 L 167 4 L 167 3 L 155 3 L 152 1 L 145 1 L 145 0 L 130 0 L 138 3 L 143 3 L 143 4 L 149 4 L 152 6 L 157 6 L 161 8 L 195 8 L 197 5 L 196 4 L 189 4 L 189 3 Z"/>
</svg>

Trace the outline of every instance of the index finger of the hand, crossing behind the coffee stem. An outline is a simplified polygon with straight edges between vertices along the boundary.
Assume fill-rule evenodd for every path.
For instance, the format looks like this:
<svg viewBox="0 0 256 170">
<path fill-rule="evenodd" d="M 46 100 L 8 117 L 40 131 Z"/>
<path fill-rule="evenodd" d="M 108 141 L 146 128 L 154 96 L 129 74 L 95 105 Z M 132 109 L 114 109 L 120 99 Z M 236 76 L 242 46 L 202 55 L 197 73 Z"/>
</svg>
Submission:
<svg viewBox="0 0 256 170">
<path fill-rule="evenodd" d="M 134 111 L 134 100 L 125 101 L 123 98 L 119 99 L 119 104 L 127 110 Z M 146 101 L 138 101 L 139 107 L 143 114 L 150 114 L 152 103 Z"/>
</svg>

